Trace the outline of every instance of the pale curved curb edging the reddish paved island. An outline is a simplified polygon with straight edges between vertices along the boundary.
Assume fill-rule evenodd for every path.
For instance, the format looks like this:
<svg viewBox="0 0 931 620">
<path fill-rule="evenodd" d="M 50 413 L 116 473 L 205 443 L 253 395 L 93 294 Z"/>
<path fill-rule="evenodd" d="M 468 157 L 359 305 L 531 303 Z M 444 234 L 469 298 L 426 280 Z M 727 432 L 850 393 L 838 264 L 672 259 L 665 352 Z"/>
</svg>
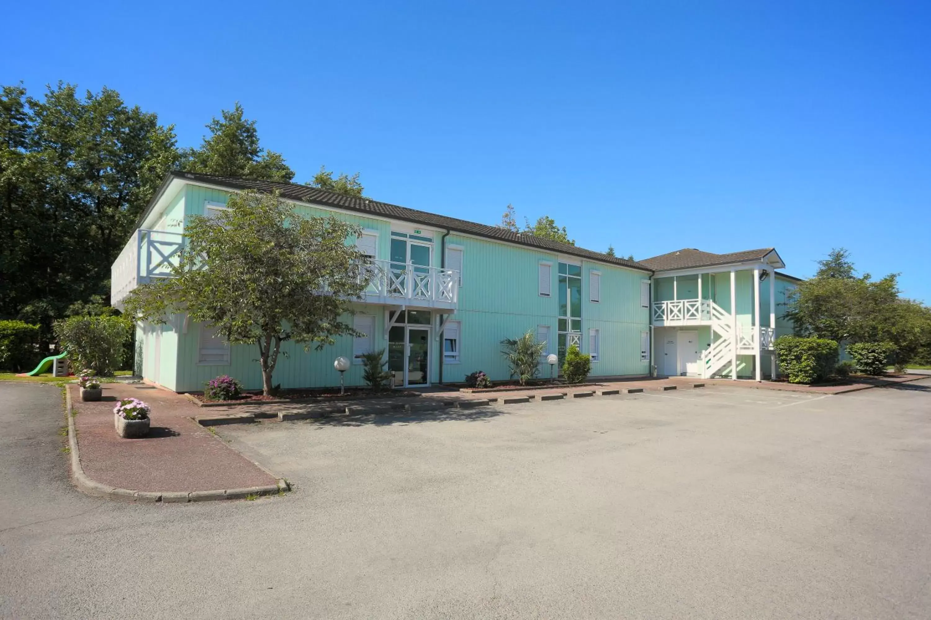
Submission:
<svg viewBox="0 0 931 620">
<path fill-rule="evenodd" d="M 71 450 L 71 470 L 74 476 L 74 485 L 79 491 L 88 495 L 109 497 L 122 501 L 161 502 L 163 504 L 169 504 L 216 499 L 242 499 L 247 495 L 277 495 L 278 493 L 290 491 L 290 484 L 288 484 L 288 481 L 284 478 L 277 479 L 277 484 L 274 486 L 253 486 L 248 489 L 218 489 L 215 491 L 191 491 L 187 493 L 183 491 L 135 491 L 132 489 L 121 489 L 110 484 L 103 484 L 91 480 L 88 478 L 88 475 L 84 473 L 84 468 L 81 467 L 81 457 L 77 452 L 77 432 L 74 429 L 74 410 L 72 409 L 70 389 L 64 390 L 64 399 L 65 416 L 68 418 L 68 447 Z"/>
</svg>

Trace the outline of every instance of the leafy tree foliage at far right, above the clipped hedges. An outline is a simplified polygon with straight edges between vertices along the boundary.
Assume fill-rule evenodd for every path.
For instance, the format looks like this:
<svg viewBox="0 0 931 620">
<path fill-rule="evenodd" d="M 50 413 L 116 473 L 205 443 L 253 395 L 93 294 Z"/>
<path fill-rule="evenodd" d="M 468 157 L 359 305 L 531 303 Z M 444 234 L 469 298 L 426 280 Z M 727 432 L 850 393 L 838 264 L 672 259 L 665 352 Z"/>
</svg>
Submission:
<svg viewBox="0 0 931 620">
<path fill-rule="evenodd" d="M 801 336 L 838 342 L 888 342 L 896 363 L 907 363 L 931 343 L 931 309 L 900 297 L 898 274 L 857 276 L 843 248 L 818 261 L 814 278 L 800 283 L 786 312 Z"/>
</svg>

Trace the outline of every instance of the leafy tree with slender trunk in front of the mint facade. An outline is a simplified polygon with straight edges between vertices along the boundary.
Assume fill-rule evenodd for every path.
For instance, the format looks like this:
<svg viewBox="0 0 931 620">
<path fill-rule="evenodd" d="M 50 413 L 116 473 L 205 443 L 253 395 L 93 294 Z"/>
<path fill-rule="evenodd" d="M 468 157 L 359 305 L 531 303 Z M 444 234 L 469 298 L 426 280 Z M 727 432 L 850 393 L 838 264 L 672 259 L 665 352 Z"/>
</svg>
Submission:
<svg viewBox="0 0 931 620">
<path fill-rule="evenodd" d="M 277 194 L 244 191 L 226 205 L 217 218 L 191 218 L 174 277 L 134 289 L 127 313 L 165 323 L 186 312 L 230 344 L 257 344 L 269 394 L 283 341 L 319 350 L 334 336 L 358 336 L 344 315 L 368 286 L 368 270 L 346 239 L 361 231 L 332 217 L 304 218 Z"/>
</svg>

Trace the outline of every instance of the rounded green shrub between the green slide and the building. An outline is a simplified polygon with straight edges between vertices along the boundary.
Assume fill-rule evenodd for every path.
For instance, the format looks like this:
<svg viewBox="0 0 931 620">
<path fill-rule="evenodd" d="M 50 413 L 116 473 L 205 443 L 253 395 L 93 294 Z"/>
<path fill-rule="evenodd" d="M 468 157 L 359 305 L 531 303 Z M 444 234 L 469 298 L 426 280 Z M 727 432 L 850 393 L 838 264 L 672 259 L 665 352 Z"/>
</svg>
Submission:
<svg viewBox="0 0 931 620">
<path fill-rule="evenodd" d="M 131 328 L 122 316 L 73 316 L 55 322 L 55 336 L 75 367 L 110 376 L 123 361 Z"/>
</svg>

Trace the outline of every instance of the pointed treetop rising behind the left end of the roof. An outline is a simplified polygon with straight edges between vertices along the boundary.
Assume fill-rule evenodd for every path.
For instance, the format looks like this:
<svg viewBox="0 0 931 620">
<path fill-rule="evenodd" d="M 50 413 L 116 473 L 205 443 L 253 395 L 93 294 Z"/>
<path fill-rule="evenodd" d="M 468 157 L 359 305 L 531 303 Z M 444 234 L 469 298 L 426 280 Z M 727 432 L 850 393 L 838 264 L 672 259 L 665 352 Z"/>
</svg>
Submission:
<svg viewBox="0 0 931 620">
<path fill-rule="evenodd" d="M 255 121 L 245 117 L 242 106 L 236 101 L 233 110 L 220 112 L 207 128 L 209 136 L 197 149 L 183 152 L 182 169 L 224 177 L 258 178 L 271 181 L 290 181 L 294 171 L 285 164 L 281 153 L 266 151 L 259 144 Z"/>
</svg>

